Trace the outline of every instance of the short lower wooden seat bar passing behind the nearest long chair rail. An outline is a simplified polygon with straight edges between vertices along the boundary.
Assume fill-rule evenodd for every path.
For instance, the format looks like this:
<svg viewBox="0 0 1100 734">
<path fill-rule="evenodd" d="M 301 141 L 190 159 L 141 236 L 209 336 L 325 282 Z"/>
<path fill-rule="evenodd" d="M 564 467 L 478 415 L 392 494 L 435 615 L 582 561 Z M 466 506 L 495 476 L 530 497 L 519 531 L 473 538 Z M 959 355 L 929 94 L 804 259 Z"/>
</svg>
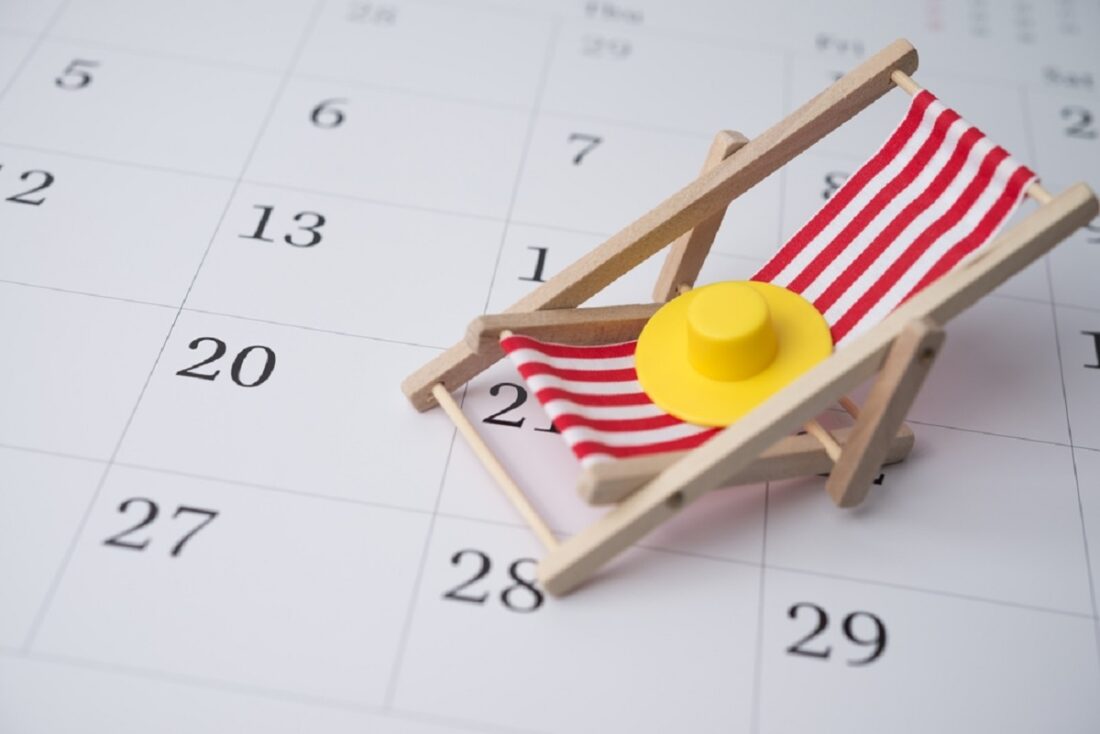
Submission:
<svg viewBox="0 0 1100 734">
<path fill-rule="evenodd" d="M 833 434 L 842 447 L 847 445 L 851 430 L 849 426 Z M 902 425 L 892 440 L 888 441 L 883 463 L 903 461 L 913 449 L 913 431 L 909 426 Z M 588 504 L 614 504 L 630 496 L 686 453 L 674 451 L 597 463 L 581 473 L 576 490 Z M 727 478 L 722 483 L 722 489 L 826 474 L 832 469 L 833 459 L 825 452 L 821 441 L 809 435 L 788 436 L 761 453 L 747 468 Z"/>
</svg>

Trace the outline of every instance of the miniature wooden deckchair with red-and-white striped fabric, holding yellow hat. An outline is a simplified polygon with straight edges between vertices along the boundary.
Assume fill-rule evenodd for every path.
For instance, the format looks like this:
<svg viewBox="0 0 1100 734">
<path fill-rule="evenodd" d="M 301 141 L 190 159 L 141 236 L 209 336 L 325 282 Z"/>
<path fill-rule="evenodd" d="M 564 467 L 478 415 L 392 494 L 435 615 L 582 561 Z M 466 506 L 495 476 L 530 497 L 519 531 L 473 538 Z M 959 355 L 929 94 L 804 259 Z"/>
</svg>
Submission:
<svg viewBox="0 0 1100 734">
<path fill-rule="evenodd" d="M 943 343 L 941 325 L 1097 215 L 1086 185 L 1052 197 L 1030 169 L 917 87 L 909 76 L 916 65 L 912 45 L 895 41 L 755 140 L 719 133 L 695 180 L 504 314 L 474 319 L 464 341 L 405 381 L 418 409 L 447 412 L 546 545 L 539 580 L 547 591 L 569 592 L 722 486 L 827 473 L 833 500 L 858 504 L 880 468 L 912 447 L 903 419 Z M 901 124 L 751 283 L 691 289 L 734 198 L 895 86 L 912 97 Z M 998 234 L 1025 196 L 1038 208 Z M 578 308 L 670 243 L 658 303 Z M 752 321 L 759 298 L 778 337 Z M 751 328 L 712 332 L 713 311 L 700 304 L 744 311 Z M 684 350 L 646 346 L 672 343 L 649 335 L 679 335 L 684 324 L 694 368 L 684 366 Z M 805 330 L 789 337 L 788 324 Z M 730 352 L 735 342 L 756 351 Z M 505 352 L 581 461 L 582 496 L 614 505 L 560 543 L 450 394 Z M 779 375 L 778 387 L 747 401 L 745 391 L 696 399 L 690 388 L 692 369 L 738 371 L 732 353 L 751 362 L 765 352 L 773 357 L 759 369 Z M 776 364 L 789 354 L 798 369 L 779 374 Z M 756 380 L 755 370 L 723 379 Z M 876 374 L 857 407 L 846 394 Z M 855 425 L 829 431 L 816 418 L 836 403 Z M 667 409 L 673 404 L 676 415 Z"/>
</svg>

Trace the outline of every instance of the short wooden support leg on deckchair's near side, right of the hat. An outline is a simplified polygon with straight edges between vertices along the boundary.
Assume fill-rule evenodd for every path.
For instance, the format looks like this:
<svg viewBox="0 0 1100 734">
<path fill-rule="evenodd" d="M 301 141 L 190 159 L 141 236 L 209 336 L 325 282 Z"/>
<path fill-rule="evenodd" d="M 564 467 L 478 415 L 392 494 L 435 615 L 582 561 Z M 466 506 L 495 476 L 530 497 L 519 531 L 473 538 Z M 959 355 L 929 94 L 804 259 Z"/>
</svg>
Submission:
<svg viewBox="0 0 1100 734">
<path fill-rule="evenodd" d="M 867 496 L 943 343 L 944 330 L 927 318 L 914 321 L 894 340 L 825 483 L 838 506 L 855 507 Z"/>
</svg>

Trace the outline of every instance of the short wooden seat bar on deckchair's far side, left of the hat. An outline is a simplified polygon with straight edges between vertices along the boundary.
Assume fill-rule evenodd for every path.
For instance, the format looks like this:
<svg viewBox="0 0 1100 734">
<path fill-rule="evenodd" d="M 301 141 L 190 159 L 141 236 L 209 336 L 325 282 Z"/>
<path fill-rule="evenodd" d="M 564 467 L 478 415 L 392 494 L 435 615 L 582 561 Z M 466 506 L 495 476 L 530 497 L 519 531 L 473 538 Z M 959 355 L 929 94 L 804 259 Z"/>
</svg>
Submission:
<svg viewBox="0 0 1100 734">
<path fill-rule="evenodd" d="M 579 346 L 630 341 L 638 338 L 646 321 L 662 305 L 554 308 L 524 314 L 479 316 L 466 329 L 466 346 L 479 354 L 499 350 L 501 336 L 505 331 Z"/>
</svg>

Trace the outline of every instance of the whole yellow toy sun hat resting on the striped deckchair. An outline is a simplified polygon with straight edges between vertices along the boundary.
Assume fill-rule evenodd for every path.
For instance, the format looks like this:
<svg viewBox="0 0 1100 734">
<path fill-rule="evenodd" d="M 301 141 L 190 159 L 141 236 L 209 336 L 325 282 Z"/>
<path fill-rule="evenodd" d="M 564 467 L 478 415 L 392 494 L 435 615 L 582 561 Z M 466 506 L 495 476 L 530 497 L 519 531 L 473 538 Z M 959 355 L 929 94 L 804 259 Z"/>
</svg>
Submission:
<svg viewBox="0 0 1100 734">
<path fill-rule="evenodd" d="M 770 283 L 726 282 L 673 298 L 646 324 L 635 366 L 681 420 L 727 426 L 833 352 L 825 317 Z"/>
</svg>

